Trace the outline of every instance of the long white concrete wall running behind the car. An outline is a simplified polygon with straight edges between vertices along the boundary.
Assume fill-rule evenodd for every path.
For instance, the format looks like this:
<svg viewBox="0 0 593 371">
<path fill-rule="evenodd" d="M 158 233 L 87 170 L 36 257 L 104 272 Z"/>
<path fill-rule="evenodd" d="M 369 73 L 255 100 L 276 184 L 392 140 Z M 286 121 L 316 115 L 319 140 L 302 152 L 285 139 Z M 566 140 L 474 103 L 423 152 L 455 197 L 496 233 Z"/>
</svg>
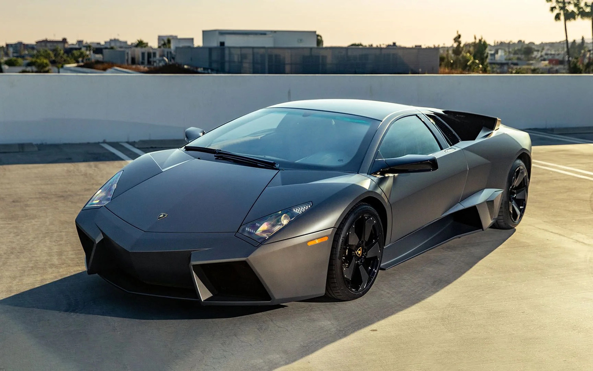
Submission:
<svg viewBox="0 0 593 371">
<path fill-rule="evenodd" d="M 593 126 L 593 75 L 0 74 L 0 143 L 183 138 L 289 100 L 355 98 Z"/>
</svg>

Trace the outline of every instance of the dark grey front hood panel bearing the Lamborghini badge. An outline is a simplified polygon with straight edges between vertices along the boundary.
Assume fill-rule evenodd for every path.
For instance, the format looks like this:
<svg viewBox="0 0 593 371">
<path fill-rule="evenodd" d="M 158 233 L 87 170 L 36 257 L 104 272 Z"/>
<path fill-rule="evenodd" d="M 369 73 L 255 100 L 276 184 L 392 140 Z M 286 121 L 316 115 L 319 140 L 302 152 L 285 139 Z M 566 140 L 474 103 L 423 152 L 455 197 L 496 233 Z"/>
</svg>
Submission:
<svg viewBox="0 0 593 371">
<path fill-rule="evenodd" d="M 157 157 L 154 161 L 139 161 L 136 166 L 146 170 L 148 179 L 138 178 L 140 170 L 133 168 L 133 163 L 129 165 L 130 174 L 124 168 L 120 182 L 126 185 L 126 175 L 133 175 L 137 179 L 132 183 L 136 184 L 130 183 L 122 190 L 118 183 L 120 193 L 106 207 L 145 232 L 237 232 L 254 202 L 278 173 L 273 169 L 185 157 L 180 152 L 183 151 L 161 155 L 170 162 L 171 157 L 178 157 L 166 167 Z M 151 162 L 157 163 L 159 169 L 155 170 Z"/>
</svg>

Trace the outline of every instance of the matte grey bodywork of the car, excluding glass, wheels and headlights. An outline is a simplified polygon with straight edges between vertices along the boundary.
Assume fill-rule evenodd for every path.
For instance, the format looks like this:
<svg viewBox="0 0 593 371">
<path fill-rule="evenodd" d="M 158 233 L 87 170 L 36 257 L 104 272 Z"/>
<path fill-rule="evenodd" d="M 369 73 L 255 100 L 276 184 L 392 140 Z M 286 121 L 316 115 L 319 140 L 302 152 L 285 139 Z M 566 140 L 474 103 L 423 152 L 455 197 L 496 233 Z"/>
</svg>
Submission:
<svg viewBox="0 0 593 371">
<path fill-rule="evenodd" d="M 358 173 L 263 169 L 204 160 L 202 153 L 183 148 L 137 158 L 123 168 L 109 204 L 84 208 L 76 218 L 88 273 L 133 293 L 203 305 L 273 305 L 322 296 L 334 233 L 353 205 L 366 202 L 381 216 L 381 268 L 387 269 L 490 227 L 513 161 L 522 158 L 531 166 L 529 135 L 496 118 L 364 100 L 273 107 L 347 113 L 381 123 Z M 438 139 L 442 150 L 433 154 L 438 170 L 372 175 L 385 132 L 410 115 Z M 480 127 L 461 133 L 476 138 L 450 145 L 427 115 Z M 313 204 L 310 210 L 261 244 L 238 233 L 244 223 L 305 202 Z M 158 219 L 161 214 L 167 215 Z"/>
</svg>

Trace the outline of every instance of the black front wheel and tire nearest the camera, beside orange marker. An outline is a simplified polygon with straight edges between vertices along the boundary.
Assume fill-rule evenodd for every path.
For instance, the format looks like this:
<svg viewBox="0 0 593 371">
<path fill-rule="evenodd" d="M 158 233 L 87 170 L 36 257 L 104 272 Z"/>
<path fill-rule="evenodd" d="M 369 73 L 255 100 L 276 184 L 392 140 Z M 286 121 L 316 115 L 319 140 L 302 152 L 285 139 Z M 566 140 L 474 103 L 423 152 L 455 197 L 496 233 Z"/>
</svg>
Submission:
<svg viewBox="0 0 593 371">
<path fill-rule="evenodd" d="M 362 202 L 354 205 L 340 223 L 331 245 L 326 296 L 346 301 L 366 294 L 377 279 L 384 243 L 377 211 Z"/>
</svg>

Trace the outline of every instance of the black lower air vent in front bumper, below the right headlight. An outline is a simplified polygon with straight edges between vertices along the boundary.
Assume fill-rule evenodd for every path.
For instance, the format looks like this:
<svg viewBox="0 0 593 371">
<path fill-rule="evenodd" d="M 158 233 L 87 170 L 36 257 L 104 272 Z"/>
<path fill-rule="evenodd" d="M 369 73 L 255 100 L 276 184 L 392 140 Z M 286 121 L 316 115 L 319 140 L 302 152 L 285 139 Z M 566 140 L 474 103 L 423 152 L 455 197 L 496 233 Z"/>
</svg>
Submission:
<svg viewBox="0 0 593 371">
<path fill-rule="evenodd" d="M 262 281 L 245 261 L 193 265 L 197 280 L 209 294 L 200 291 L 206 302 L 269 302 Z M 200 285 L 198 285 L 200 286 Z"/>
</svg>

